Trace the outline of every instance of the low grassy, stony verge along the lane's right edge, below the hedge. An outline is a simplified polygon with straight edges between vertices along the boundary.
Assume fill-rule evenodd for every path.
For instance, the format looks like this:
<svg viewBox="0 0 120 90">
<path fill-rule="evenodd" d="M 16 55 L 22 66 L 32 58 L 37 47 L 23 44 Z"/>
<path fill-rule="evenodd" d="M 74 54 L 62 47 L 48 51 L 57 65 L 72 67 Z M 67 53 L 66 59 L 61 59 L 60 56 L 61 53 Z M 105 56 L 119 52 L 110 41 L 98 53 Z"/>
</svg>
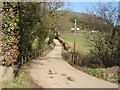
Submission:
<svg viewBox="0 0 120 90">
<path fill-rule="evenodd" d="M 78 65 L 74 65 L 74 67 L 94 77 L 118 84 L 119 76 L 118 76 L 118 72 L 116 71 L 118 67 L 116 66 L 111 68 L 89 68 L 89 67 L 81 67 Z"/>
</svg>

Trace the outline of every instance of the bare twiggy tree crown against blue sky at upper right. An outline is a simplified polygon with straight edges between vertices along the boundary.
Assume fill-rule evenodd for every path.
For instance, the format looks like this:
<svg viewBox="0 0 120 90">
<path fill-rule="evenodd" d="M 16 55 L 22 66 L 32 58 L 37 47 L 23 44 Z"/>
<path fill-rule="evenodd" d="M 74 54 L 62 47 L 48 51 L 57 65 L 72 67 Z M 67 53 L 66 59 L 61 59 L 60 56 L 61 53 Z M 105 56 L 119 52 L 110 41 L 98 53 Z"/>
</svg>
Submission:
<svg viewBox="0 0 120 90">
<path fill-rule="evenodd" d="M 93 7 L 94 9 L 90 11 L 90 14 L 96 16 L 97 27 L 102 32 L 110 32 L 113 26 L 117 24 L 118 20 L 118 3 L 98 3 Z"/>
</svg>

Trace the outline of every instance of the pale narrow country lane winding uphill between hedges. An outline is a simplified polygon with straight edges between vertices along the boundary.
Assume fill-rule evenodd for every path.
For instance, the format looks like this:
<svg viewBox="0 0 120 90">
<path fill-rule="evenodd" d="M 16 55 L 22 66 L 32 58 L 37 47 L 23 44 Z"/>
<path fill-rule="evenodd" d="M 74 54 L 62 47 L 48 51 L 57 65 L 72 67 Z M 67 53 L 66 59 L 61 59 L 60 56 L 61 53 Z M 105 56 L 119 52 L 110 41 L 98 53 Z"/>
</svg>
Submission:
<svg viewBox="0 0 120 90">
<path fill-rule="evenodd" d="M 85 74 L 69 65 L 61 56 L 62 46 L 55 40 L 55 48 L 44 58 L 37 58 L 30 67 L 30 75 L 43 88 L 117 88 L 116 84 Z"/>
</svg>

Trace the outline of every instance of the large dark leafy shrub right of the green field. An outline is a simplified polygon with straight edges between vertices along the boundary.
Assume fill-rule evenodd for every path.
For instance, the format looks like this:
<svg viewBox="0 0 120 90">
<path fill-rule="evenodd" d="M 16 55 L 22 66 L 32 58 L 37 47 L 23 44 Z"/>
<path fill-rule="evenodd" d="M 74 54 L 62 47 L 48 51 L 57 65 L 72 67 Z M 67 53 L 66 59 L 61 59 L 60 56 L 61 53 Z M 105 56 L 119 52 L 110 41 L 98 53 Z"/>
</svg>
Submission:
<svg viewBox="0 0 120 90">
<path fill-rule="evenodd" d="M 93 40 L 94 49 L 91 50 L 91 62 L 98 66 L 117 66 L 120 55 L 120 36 L 110 36 L 100 33 Z"/>
</svg>

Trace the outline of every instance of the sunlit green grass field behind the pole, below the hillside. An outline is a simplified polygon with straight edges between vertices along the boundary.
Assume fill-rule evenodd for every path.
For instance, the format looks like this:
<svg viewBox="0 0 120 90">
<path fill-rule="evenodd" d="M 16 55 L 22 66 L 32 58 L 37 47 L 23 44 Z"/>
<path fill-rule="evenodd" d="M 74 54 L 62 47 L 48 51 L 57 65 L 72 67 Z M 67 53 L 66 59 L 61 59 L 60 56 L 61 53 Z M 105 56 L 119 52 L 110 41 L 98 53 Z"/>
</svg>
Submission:
<svg viewBox="0 0 120 90">
<path fill-rule="evenodd" d="M 74 33 L 72 32 L 64 32 L 62 34 L 62 38 L 71 46 L 74 45 Z M 91 39 L 92 35 L 89 33 L 77 33 L 76 34 L 76 50 L 80 52 L 81 54 L 88 54 L 90 49 L 92 49 L 91 46 Z"/>
</svg>

